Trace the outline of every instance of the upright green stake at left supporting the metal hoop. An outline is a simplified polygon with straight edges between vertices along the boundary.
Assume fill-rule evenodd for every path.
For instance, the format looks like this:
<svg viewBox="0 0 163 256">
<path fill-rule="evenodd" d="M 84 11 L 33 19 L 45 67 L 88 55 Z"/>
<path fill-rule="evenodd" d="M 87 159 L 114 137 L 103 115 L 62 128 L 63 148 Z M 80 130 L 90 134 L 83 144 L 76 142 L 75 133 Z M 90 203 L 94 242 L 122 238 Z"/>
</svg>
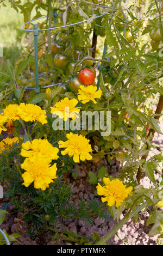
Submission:
<svg viewBox="0 0 163 256">
<path fill-rule="evenodd" d="M 37 35 L 39 34 L 39 29 L 38 29 L 37 23 L 33 23 L 33 34 L 34 34 L 34 50 L 35 50 L 35 93 L 40 93 L 38 47 L 37 47 Z"/>
</svg>

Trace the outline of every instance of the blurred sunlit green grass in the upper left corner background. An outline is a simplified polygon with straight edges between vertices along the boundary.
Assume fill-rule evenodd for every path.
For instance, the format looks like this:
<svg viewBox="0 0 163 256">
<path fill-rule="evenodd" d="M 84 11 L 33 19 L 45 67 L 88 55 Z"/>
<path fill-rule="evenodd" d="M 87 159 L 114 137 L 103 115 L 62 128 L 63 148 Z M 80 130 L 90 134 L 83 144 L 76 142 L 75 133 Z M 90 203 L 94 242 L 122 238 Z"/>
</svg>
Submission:
<svg viewBox="0 0 163 256">
<path fill-rule="evenodd" d="M 12 65 L 21 57 L 21 51 L 24 47 L 25 32 L 21 26 L 23 22 L 23 14 L 10 7 L 9 1 L 4 1 L 6 7 L 0 4 L 0 44 L 3 47 L 3 57 L 0 57 L 0 71 L 8 74 L 6 61 L 9 59 Z M 11 81 L 4 76 L 0 76 L 0 91 L 10 86 Z"/>
</svg>

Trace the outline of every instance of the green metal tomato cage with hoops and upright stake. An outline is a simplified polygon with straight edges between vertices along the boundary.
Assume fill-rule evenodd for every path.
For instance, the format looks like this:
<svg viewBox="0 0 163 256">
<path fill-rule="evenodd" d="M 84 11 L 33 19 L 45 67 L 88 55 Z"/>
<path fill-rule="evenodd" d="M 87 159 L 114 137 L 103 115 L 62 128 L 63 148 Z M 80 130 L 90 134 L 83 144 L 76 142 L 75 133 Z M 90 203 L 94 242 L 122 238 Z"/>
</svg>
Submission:
<svg viewBox="0 0 163 256">
<path fill-rule="evenodd" d="M 64 13 L 57 13 L 57 10 L 54 10 L 54 23 L 57 24 L 57 15 L 62 15 Z M 101 15 L 98 15 L 95 17 L 95 19 L 97 19 L 98 17 L 102 17 L 104 16 L 105 14 L 101 14 Z M 77 22 L 77 23 L 71 23 L 71 24 L 68 24 L 68 25 L 65 25 L 65 26 L 61 26 L 61 27 L 53 27 L 53 28 L 45 28 L 45 29 L 40 29 L 38 26 L 37 26 L 37 23 L 35 21 L 37 20 L 40 20 L 40 19 L 45 19 L 49 17 L 49 15 L 47 16 L 43 16 L 43 17 L 40 17 L 40 18 L 37 18 L 35 20 L 31 20 L 31 21 L 28 21 L 26 23 L 24 23 L 21 27 L 21 29 L 23 31 L 28 31 L 28 32 L 33 32 L 33 35 L 34 35 L 34 58 L 35 58 L 35 88 L 26 88 L 26 89 L 34 89 L 35 90 L 35 93 L 36 94 L 39 94 L 40 93 L 40 89 L 43 89 L 43 88 L 47 88 L 47 87 L 52 87 L 52 86 L 57 86 L 61 83 L 57 83 L 57 84 L 51 84 L 50 86 L 45 86 L 45 87 L 40 87 L 39 86 L 39 77 L 40 76 L 43 76 L 43 75 L 46 75 L 48 74 L 49 72 L 45 73 L 45 74 L 42 74 L 42 75 L 39 75 L 39 66 L 38 66 L 38 46 L 37 46 L 37 36 L 39 34 L 39 32 L 41 31 L 49 31 L 49 30 L 53 30 L 53 29 L 62 29 L 62 28 L 66 28 L 66 27 L 71 27 L 71 26 L 76 26 L 78 24 L 81 24 L 81 23 L 84 23 L 84 22 L 87 22 L 87 20 L 85 21 L 80 21 L 80 22 Z M 33 22 L 33 29 L 24 29 L 23 27 L 26 26 L 27 24 Z M 106 52 L 106 46 L 104 47 L 104 52 Z M 105 55 L 105 53 L 103 53 L 103 55 Z M 100 74 L 101 72 L 99 72 L 99 76 L 98 76 L 98 83 L 97 83 L 97 87 L 99 87 L 99 81 L 100 81 Z M 29 81 L 32 81 L 34 78 L 30 79 Z M 28 81 L 28 82 L 29 82 Z M 67 81 L 66 81 L 67 82 Z"/>
</svg>

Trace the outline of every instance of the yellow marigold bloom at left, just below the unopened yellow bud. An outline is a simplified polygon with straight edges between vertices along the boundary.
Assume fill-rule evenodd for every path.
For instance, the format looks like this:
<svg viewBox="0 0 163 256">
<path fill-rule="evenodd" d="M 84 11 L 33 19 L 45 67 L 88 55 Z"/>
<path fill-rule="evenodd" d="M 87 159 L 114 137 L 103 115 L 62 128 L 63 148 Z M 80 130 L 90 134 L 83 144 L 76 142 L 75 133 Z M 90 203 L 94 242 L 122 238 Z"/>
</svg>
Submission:
<svg viewBox="0 0 163 256">
<path fill-rule="evenodd" d="M 47 124 L 46 111 L 35 104 L 21 103 L 17 108 L 18 115 L 26 122 L 39 121 L 41 124 Z"/>
</svg>

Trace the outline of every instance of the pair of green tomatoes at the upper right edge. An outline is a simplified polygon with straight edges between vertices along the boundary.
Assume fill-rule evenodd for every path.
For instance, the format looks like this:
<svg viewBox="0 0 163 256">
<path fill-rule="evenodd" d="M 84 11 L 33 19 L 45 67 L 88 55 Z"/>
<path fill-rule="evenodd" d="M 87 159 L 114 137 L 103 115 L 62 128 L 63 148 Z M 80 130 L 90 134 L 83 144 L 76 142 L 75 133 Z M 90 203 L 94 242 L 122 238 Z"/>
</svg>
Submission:
<svg viewBox="0 0 163 256">
<path fill-rule="evenodd" d="M 151 46 L 154 50 L 159 51 L 160 44 L 162 44 L 162 36 L 159 28 L 153 28 L 151 33 L 149 34 L 151 37 Z"/>
</svg>

